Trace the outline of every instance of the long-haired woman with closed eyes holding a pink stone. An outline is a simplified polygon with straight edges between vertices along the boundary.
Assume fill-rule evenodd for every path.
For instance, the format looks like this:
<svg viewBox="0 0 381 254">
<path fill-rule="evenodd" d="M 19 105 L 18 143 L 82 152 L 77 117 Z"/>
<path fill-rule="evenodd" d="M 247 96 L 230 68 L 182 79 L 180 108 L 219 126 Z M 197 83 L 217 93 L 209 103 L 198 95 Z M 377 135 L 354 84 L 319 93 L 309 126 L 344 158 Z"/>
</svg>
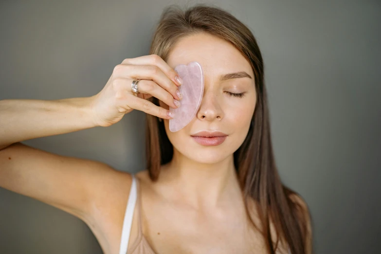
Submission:
<svg viewBox="0 0 381 254">
<path fill-rule="evenodd" d="M 200 109 L 171 132 L 174 68 L 192 61 L 205 73 Z M 147 169 L 135 175 L 20 143 L 108 127 L 133 109 L 147 113 Z M 0 110 L 0 186 L 82 219 L 106 254 L 312 253 L 308 206 L 276 170 L 260 50 L 217 7 L 169 6 L 150 54 L 125 59 L 94 96 L 2 100 Z M 225 137 L 200 144 L 200 131 Z"/>
</svg>

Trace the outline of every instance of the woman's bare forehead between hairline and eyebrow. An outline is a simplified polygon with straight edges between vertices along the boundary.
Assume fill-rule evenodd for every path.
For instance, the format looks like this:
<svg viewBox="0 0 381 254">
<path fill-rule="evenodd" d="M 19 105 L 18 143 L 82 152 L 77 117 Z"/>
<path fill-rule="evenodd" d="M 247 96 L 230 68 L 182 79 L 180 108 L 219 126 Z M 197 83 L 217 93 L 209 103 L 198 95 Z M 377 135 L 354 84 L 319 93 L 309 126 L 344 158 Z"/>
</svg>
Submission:
<svg viewBox="0 0 381 254">
<path fill-rule="evenodd" d="M 221 74 L 245 71 L 254 77 L 249 61 L 230 42 L 206 33 L 182 37 L 167 59 L 175 69 L 179 64 L 199 62 L 205 77 L 217 78 Z"/>
</svg>

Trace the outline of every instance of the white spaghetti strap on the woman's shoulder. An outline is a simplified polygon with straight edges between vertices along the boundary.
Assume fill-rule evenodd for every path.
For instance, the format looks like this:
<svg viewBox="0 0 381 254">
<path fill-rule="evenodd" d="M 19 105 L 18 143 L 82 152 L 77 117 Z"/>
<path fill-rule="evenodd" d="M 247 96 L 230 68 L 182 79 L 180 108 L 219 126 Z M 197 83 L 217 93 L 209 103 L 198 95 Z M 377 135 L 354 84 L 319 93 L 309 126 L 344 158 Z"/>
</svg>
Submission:
<svg viewBox="0 0 381 254">
<path fill-rule="evenodd" d="M 129 235 L 131 233 L 132 218 L 133 218 L 136 199 L 137 199 L 136 182 L 137 181 L 136 181 L 135 175 L 132 175 L 132 184 L 131 184 L 131 188 L 128 195 L 125 218 L 123 220 L 123 229 L 122 229 L 119 254 L 127 253 Z"/>
</svg>

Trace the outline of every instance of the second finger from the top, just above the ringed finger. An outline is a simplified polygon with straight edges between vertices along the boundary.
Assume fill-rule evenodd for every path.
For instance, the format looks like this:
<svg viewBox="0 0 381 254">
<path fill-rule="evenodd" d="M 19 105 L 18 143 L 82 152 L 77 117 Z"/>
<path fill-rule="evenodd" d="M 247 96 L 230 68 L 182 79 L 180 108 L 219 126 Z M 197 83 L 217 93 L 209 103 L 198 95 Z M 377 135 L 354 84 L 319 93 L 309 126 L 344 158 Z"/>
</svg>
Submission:
<svg viewBox="0 0 381 254">
<path fill-rule="evenodd" d="M 181 100 L 178 87 L 155 65 L 125 65 L 119 64 L 114 68 L 114 78 L 152 80 L 168 91 L 172 96 Z M 132 82 L 132 81 L 131 81 Z"/>
</svg>

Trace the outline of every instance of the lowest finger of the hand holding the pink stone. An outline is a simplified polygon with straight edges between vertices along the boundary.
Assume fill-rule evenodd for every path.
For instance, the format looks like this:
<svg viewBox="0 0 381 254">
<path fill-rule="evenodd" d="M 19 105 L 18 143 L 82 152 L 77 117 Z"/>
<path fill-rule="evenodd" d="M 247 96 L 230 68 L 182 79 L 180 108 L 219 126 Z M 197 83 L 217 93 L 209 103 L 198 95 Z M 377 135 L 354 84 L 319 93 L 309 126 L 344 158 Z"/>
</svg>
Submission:
<svg viewBox="0 0 381 254">
<path fill-rule="evenodd" d="M 174 113 L 164 109 L 162 107 L 156 106 L 152 102 L 139 98 L 134 95 L 130 95 L 131 98 L 128 99 L 128 107 L 131 109 L 141 110 L 147 114 L 155 115 L 157 117 L 161 117 L 164 119 L 172 119 L 174 117 Z"/>
</svg>

